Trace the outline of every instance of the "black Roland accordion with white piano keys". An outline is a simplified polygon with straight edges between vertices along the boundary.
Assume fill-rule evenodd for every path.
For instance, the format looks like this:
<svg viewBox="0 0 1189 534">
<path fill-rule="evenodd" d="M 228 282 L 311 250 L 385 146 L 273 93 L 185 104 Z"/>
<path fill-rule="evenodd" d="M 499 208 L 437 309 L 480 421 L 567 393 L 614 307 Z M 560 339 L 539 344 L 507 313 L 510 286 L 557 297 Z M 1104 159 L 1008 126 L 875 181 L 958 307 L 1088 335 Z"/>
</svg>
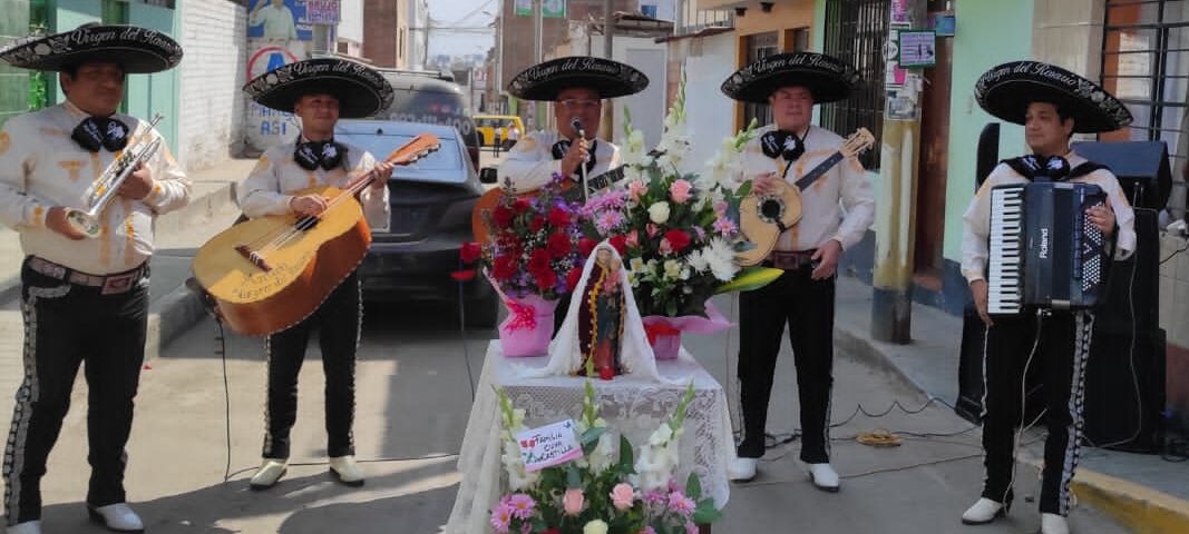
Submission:
<svg viewBox="0 0 1189 534">
<path fill-rule="evenodd" d="M 1086 215 L 1093 184 L 1034 182 L 990 191 L 988 312 L 1093 307 L 1106 294 L 1107 239 Z"/>
</svg>

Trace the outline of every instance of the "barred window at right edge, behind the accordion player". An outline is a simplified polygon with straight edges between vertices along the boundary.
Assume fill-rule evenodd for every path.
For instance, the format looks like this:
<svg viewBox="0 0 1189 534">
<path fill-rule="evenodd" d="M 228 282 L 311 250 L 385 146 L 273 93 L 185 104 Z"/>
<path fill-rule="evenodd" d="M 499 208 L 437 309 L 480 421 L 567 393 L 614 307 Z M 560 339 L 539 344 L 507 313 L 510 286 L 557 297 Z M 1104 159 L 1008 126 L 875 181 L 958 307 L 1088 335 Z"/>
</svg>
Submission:
<svg viewBox="0 0 1189 534">
<path fill-rule="evenodd" d="M 1165 141 L 1174 169 L 1169 211 L 1185 218 L 1189 157 L 1189 0 L 1108 0 L 1102 83 L 1131 110 L 1103 140 Z"/>
</svg>

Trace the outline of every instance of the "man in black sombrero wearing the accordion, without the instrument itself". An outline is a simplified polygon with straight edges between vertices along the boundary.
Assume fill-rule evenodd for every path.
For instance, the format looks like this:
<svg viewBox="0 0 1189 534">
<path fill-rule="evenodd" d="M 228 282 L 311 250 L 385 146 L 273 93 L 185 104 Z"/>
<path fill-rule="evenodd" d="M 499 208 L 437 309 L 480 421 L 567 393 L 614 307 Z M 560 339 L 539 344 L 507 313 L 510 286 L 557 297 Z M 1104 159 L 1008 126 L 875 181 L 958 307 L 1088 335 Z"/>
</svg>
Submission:
<svg viewBox="0 0 1189 534">
<path fill-rule="evenodd" d="M 975 97 L 987 113 L 1024 125 L 1032 154 L 996 166 L 963 216 L 962 274 L 970 282 L 975 306 L 987 324 L 982 427 L 987 477 L 982 497 L 962 514 L 962 522 L 988 523 L 1006 515 L 1011 508 L 1015 431 L 1026 422 L 1023 421 L 1020 388 L 1031 360 L 1044 382 L 1049 428 L 1040 485 L 1040 530 L 1067 533 L 1069 481 L 1078 459 L 1083 376 L 1094 313 L 1055 310 L 1036 317 L 1031 313 L 996 316 L 994 320 L 987 314 L 990 190 L 1033 179 L 1097 185 L 1109 202 L 1106 206 L 1089 208 L 1088 218 L 1103 235 L 1114 239 L 1115 259 L 1126 259 L 1135 249 L 1135 217 L 1131 205 L 1115 176 L 1072 152 L 1069 139 L 1075 132 L 1122 128 L 1131 123 L 1131 113 L 1089 80 L 1030 61 L 1006 63 L 984 72 L 975 84 Z"/>
</svg>

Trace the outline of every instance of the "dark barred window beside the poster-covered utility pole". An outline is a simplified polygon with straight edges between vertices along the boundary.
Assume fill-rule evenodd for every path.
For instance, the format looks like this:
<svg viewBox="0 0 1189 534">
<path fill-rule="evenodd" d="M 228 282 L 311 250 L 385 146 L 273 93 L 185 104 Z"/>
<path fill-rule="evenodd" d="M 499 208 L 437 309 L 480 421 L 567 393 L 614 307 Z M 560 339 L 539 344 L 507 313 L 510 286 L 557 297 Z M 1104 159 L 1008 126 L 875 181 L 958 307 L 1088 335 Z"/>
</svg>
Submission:
<svg viewBox="0 0 1189 534">
<path fill-rule="evenodd" d="M 883 128 L 883 44 L 888 39 L 889 0 L 826 0 L 824 52 L 858 70 L 858 89 L 842 102 L 822 106 L 822 126 L 848 135 L 860 126 Z M 879 170 L 880 145 L 860 157 Z"/>
</svg>

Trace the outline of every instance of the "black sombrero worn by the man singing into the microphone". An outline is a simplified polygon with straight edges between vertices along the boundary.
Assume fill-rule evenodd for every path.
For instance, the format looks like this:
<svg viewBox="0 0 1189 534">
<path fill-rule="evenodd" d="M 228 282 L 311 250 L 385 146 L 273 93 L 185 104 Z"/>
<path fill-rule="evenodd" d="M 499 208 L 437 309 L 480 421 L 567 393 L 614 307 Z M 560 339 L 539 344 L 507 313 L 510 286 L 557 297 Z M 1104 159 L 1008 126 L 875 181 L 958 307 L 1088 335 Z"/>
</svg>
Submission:
<svg viewBox="0 0 1189 534">
<path fill-rule="evenodd" d="M 552 101 L 573 87 L 593 89 L 600 98 L 615 98 L 644 90 L 648 76 L 612 59 L 562 57 L 522 70 L 508 82 L 508 93 L 523 100 Z"/>
</svg>

